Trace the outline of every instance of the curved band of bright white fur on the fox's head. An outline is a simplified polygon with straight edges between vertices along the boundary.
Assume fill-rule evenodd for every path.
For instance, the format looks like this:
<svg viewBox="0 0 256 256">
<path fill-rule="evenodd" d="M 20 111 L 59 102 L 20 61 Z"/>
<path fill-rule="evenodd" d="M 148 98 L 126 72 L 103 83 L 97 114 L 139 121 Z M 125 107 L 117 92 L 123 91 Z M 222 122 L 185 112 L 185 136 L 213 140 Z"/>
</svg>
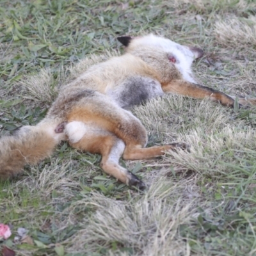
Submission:
<svg viewBox="0 0 256 256">
<path fill-rule="evenodd" d="M 177 44 L 167 38 L 147 35 L 132 40 L 132 45 L 148 45 L 157 47 L 157 49 L 163 49 L 167 54 L 173 54 L 176 58 L 175 67 L 180 71 L 183 78 L 191 83 L 196 83 L 193 79 L 191 64 L 195 60 L 195 54 L 188 49 L 188 47 Z"/>
</svg>

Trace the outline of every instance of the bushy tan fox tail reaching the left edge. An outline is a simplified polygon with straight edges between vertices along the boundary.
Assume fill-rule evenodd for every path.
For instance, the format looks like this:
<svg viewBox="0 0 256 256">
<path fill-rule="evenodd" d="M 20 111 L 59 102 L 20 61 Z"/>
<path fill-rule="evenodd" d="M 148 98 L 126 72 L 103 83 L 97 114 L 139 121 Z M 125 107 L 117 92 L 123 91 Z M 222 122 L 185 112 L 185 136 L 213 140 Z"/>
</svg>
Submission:
<svg viewBox="0 0 256 256">
<path fill-rule="evenodd" d="M 0 138 L 0 179 L 22 172 L 25 164 L 49 157 L 60 142 L 52 125 L 24 126 L 12 136 Z"/>
</svg>

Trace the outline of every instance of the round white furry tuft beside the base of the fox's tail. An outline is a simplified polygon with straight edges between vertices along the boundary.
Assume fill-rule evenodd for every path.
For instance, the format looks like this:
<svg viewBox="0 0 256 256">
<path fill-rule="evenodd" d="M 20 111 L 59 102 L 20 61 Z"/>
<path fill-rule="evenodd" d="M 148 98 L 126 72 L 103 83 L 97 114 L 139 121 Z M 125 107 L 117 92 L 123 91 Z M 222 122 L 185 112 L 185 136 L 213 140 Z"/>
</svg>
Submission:
<svg viewBox="0 0 256 256">
<path fill-rule="evenodd" d="M 83 122 L 72 121 L 65 127 L 65 134 L 71 143 L 77 143 L 87 132 L 86 125 Z"/>
</svg>

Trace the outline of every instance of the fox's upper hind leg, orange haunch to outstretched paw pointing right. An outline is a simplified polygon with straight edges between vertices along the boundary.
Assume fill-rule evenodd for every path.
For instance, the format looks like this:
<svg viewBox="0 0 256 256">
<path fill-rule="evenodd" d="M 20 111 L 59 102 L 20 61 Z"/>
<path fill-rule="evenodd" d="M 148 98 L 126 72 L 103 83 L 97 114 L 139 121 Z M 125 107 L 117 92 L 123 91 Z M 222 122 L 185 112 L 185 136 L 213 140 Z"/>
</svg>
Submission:
<svg viewBox="0 0 256 256">
<path fill-rule="evenodd" d="M 97 111 L 97 108 L 79 108 L 74 109 L 70 116 L 72 116 L 70 121 L 76 118 L 80 122 L 93 122 L 98 127 L 102 127 L 105 131 L 115 134 L 116 137 L 124 141 L 124 159 L 151 159 L 164 155 L 166 150 L 176 150 L 177 148 L 189 150 L 188 145 L 185 143 L 172 143 L 170 145 L 145 148 L 147 145 L 145 127 L 138 118 L 125 109 L 113 108 L 111 109 L 111 115 L 109 115 L 109 113 Z"/>
</svg>

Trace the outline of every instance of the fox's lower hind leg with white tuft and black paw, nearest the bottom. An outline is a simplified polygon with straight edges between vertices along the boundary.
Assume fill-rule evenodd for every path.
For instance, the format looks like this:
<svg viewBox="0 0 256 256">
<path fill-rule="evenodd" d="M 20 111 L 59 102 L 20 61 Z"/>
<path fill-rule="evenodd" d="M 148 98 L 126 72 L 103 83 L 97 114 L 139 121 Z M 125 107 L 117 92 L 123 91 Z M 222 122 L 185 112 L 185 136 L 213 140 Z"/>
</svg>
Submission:
<svg viewBox="0 0 256 256">
<path fill-rule="evenodd" d="M 136 175 L 119 164 L 119 159 L 125 149 L 124 141 L 100 127 L 77 121 L 68 123 L 65 132 L 72 147 L 102 156 L 100 167 L 104 172 L 129 186 L 145 188 L 145 184 Z"/>
</svg>

